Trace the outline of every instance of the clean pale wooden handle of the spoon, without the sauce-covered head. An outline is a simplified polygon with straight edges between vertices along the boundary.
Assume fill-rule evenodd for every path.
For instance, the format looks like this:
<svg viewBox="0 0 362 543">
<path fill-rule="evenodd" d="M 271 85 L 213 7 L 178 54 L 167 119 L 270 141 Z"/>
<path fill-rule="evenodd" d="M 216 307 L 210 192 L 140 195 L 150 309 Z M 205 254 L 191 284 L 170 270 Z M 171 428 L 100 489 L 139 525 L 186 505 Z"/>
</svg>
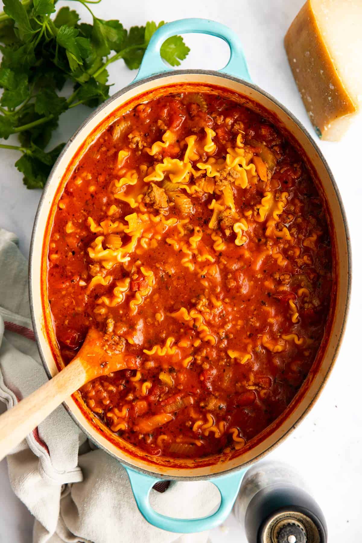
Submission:
<svg viewBox="0 0 362 543">
<path fill-rule="evenodd" d="M 73 361 L 15 407 L 0 416 L 0 460 L 87 381 L 80 359 Z"/>
</svg>

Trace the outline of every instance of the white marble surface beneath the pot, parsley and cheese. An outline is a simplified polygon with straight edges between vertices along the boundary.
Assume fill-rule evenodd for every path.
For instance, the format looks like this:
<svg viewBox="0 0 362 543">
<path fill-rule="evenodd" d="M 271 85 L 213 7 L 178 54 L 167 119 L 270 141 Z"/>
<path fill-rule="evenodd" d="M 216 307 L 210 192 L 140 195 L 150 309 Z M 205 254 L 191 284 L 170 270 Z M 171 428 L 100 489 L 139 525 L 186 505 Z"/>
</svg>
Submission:
<svg viewBox="0 0 362 543">
<path fill-rule="evenodd" d="M 57 7 L 64 3 L 58 2 Z M 103 0 L 92 8 L 102 18 L 119 18 L 125 27 L 147 20 L 172 21 L 190 16 L 211 18 L 230 26 L 243 42 L 253 81 L 295 113 L 309 131 L 312 130 L 283 48 L 285 31 L 303 0 L 132 0 L 126 9 L 122 4 Z M 79 4 L 77 8 L 82 9 Z M 87 18 L 85 10 L 84 15 Z M 217 69 L 226 64 L 228 48 L 220 40 L 187 35 L 186 41 L 192 53 L 183 63 L 184 67 Z M 135 75 L 122 65 L 122 61 L 112 65 L 110 72 L 110 80 L 115 82 L 113 92 L 128 84 Z M 87 113 L 84 108 L 64 115 L 55 135 L 56 142 L 69 136 Z M 270 458 L 294 465 L 307 478 L 326 515 L 331 543 L 361 540 L 362 411 L 359 387 L 362 360 L 357 338 L 362 307 L 359 281 L 362 268 L 359 204 L 362 174 L 360 166 L 354 169 L 346 166 L 359 165 L 361 128 L 362 119 L 355 123 L 342 142 L 319 142 L 338 183 L 351 231 L 355 275 L 344 343 L 331 378 L 312 412 L 270 454 Z M 22 185 L 21 175 L 13 166 L 16 158 L 15 152 L 0 150 L 0 225 L 17 233 L 21 250 L 27 255 L 40 192 L 28 191 Z M 31 541 L 31 516 L 11 492 L 5 462 L 0 464 L 0 500 L 0 542 Z M 211 539 L 213 543 L 245 541 L 242 529 L 232 515 L 224 527 L 212 531 Z"/>
</svg>

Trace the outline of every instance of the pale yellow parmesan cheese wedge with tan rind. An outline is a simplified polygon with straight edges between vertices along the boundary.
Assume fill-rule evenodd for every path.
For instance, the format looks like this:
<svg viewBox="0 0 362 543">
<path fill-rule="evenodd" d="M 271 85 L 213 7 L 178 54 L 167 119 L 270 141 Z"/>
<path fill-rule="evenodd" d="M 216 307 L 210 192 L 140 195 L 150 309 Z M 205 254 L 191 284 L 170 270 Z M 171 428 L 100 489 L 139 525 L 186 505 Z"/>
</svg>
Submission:
<svg viewBox="0 0 362 543">
<path fill-rule="evenodd" d="M 315 131 L 340 140 L 362 105 L 362 0 L 308 0 L 284 45 Z"/>
</svg>

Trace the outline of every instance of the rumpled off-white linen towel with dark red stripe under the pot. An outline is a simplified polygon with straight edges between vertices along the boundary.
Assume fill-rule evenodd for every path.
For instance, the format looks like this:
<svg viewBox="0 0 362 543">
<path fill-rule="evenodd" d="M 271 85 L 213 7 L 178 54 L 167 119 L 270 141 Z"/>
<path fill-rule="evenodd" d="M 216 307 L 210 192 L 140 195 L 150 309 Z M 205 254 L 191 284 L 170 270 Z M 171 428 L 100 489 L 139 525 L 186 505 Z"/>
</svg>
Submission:
<svg viewBox="0 0 362 543">
<path fill-rule="evenodd" d="M 0 229 L 0 400 L 10 409 L 47 377 L 34 342 L 28 264 L 14 234 Z M 150 526 L 139 513 L 128 476 L 96 449 L 60 406 L 8 456 L 12 489 L 35 517 L 35 543 L 202 543 L 207 532 L 176 536 Z M 164 515 L 201 517 L 218 506 L 219 491 L 205 481 L 155 490 Z"/>
</svg>

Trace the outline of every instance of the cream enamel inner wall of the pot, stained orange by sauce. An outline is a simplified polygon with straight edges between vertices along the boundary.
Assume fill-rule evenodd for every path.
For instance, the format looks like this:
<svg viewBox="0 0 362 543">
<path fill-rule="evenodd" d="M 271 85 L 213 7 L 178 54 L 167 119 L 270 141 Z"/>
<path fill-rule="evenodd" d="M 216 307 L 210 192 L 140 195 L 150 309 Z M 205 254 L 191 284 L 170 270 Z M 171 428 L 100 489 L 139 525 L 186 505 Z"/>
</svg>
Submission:
<svg viewBox="0 0 362 543">
<path fill-rule="evenodd" d="M 328 199 L 328 205 L 331 211 L 335 232 L 339 277 L 336 293 L 334 322 L 332 324 L 331 334 L 329 335 L 328 344 L 325 348 L 325 354 L 323 356 L 319 371 L 316 375 L 311 376 L 309 381 L 307 379 L 308 383 L 305 387 L 303 385 L 304 392 L 302 392 L 302 387 L 301 398 L 299 397 L 299 401 L 295 402 L 295 406 L 293 409 L 291 409 L 288 418 L 284 420 L 280 426 L 276 427 L 274 431 L 271 433 L 266 433 L 266 437 L 261 441 L 261 443 L 257 443 L 250 450 L 247 450 L 238 457 L 226 459 L 223 462 L 217 461 L 212 465 L 198 465 L 197 461 L 190 462 L 189 460 L 185 462 L 183 467 L 177 467 L 175 465 L 170 466 L 167 462 L 157 465 L 150 464 L 141 457 L 135 457 L 132 456 L 130 452 L 120 450 L 119 447 L 111 443 L 111 441 L 109 441 L 104 435 L 99 433 L 92 426 L 90 421 L 86 419 L 78 403 L 73 398 L 69 398 L 65 402 L 68 411 L 94 441 L 94 443 L 98 444 L 104 450 L 112 454 L 112 456 L 118 458 L 121 462 L 127 463 L 146 472 L 157 474 L 157 476 L 187 479 L 215 476 L 228 470 L 242 468 L 243 466 L 254 462 L 257 458 L 268 452 L 271 447 L 274 447 L 286 434 L 288 434 L 288 432 L 299 422 L 303 414 L 308 411 L 319 393 L 323 382 L 326 380 L 329 370 L 332 367 L 336 352 L 338 351 L 342 332 L 344 330 L 348 293 L 350 288 L 350 255 L 344 212 L 341 208 L 339 195 L 334 188 L 331 175 L 328 173 L 328 168 L 303 129 L 301 129 L 299 125 L 296 124 L 296 122 L 288 115 L 288 113 L 285 112 L 280 105 L 274 102 L 274 100 L 268 96 L 265 96 L 264 93 L 253 86 L 243 84 L 235 79 L 226 78 L 224 75 L 217 74 L 216 72 L 175 72 L 163 75 L 162 77 L 145 80 L 144 83 L 141 82 L 134 87 L 127 87 L 124 91 L 120 91 L 115 97 L 112 97 L 112 99 L 101 107 L 98 112 L 96 112 L 96 115 L 90 117 L 90 119 L 88 119 L 88 121 L 82 125 L 77 134 L 73 136 L 64 153 L 61 155 L 60 160 L 53 169 L 52 174 L 50 175 L 37 212 L 30 255 L 30 300 L 37 343 L 48 375 L 54 376 L 58 372 L 58 369 L 56 368 L 53 351 L 48 343 L 47 334 L 45 332 L 46 323 L 42 311 L 41 300 L 41 252 L 49 210 L 52 206 L 55 193 L 61 182 L 63 174 L 66 171 L 68 163 L 71 161 L 73 155 L 77 152 L 81 143 L 87 139 L 87 137 L 90 135 L 93 129 L 97 127 L 102 119 L 110 115 L 112 111 L 116 110 L 123 103 L 128 102 L 128 100 L 137 96 L 138 94 L 143 94 L 144 92 L 155 89 L 156 87 L 162 87 L 175 83 L 200 83 L 204 85 L 212 84 L 227 87 L 228 89 L 241 93 L 261 104 L 264 106 L 264 108 L 274 113 L 278 119 L 280 119 L 281 123 L 285 125 L 289 132 L 300 143 L 304 153 L 314 166 L 317 176 L 319 176 L 323 192 Z M 294 402 L 292 402 L 292 405 L 293 404 Z"/>
</svg>

